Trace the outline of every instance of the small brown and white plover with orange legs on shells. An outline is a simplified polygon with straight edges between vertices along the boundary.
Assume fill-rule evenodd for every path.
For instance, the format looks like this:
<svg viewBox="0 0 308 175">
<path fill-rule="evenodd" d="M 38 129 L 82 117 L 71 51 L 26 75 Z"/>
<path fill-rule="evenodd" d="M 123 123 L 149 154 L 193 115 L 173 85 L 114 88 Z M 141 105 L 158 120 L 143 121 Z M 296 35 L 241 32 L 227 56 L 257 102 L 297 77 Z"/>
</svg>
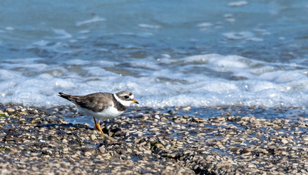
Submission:
<svg viewBox="0 0 308 175">
<path fill-rule="evenodd" d="M 68 95 L 63 92 L 58 92 L 58 96 L 73 102 L 79 112 L 84 112 L 91 115 L 98 132 L 103 133 L 101 129 L 100 120 L 118 117 L 121 115 L 132 103 L 139 104 L 135 100 L 132 92 L 127 90 L 118 93 L 96 92 L 88 95 Z M 98 122 L 96 122 L 98 119 Z"/>
</svg>

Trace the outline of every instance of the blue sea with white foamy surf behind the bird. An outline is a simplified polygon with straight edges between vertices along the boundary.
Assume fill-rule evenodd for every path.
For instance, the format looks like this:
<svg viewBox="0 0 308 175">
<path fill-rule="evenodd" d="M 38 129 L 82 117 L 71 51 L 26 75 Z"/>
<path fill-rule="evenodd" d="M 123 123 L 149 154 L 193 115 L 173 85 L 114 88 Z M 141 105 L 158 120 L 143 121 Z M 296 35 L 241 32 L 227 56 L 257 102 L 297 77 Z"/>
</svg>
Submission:
<svg viewBox="0 0 308 175">
<path fill-rule="evenodd" d="M 301 0 L 4 1 L 1 102 L 130 90 L 141 107 L 306 107 L 307 15 Z"/>
</svg>

